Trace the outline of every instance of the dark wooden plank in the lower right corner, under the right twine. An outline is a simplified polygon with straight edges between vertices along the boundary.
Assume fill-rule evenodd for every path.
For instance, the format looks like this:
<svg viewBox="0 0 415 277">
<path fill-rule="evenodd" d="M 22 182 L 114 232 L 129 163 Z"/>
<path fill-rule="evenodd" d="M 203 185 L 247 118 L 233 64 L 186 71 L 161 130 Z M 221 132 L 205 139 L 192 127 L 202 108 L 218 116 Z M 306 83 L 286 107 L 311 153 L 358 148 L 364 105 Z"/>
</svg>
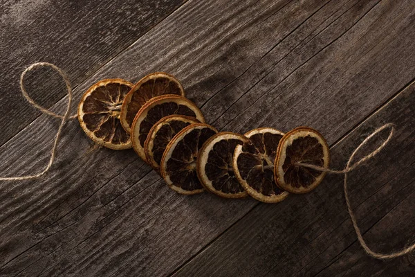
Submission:
<svg viewBox="0 0 415 277">
<path fill-rule="evenodd" d="M 367 134 L 385 122 L 396 124 L 387 148 L 348 178 L 360 229 L 380 253 L 415 242 L 414 103 L 412 84 L 331 148 L 333 167 L 344 168 Z M 385 138 L 387 132 L 380 133 L 365 153 Z M 329 175 L 307 195 L 259 204 L 174 276 L 412 276 L 414 261 L 407 256 L 388 261 L 367 256 L 349 220 L 342 186 L 342 177 Z"/>
</svg>

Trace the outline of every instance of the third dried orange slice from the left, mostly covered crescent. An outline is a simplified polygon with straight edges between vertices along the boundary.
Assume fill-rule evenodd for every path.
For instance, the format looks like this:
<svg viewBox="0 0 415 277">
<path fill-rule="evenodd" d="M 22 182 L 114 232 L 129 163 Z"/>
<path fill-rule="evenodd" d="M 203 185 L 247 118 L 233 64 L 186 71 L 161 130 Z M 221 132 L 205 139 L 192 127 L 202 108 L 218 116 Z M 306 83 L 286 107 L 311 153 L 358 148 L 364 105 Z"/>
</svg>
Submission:
<svg viewBox="0 0 415 277">
<path fill-rule="evenodd" d="M 181 114 L 183 116 L 191 116 L 205 122 L 201 110 L 194 102 L 182 96 L 167 94 L 165 96 L 157 96 L 145 103 L 138 111 L 131 125 L 131 141 L 133 148 L 138 156 L 147 161 L 144 152 L 144 143 L 147 139 L 151 127 L 154 126 L 161 118 L 172 114 Z"/>
</svg>

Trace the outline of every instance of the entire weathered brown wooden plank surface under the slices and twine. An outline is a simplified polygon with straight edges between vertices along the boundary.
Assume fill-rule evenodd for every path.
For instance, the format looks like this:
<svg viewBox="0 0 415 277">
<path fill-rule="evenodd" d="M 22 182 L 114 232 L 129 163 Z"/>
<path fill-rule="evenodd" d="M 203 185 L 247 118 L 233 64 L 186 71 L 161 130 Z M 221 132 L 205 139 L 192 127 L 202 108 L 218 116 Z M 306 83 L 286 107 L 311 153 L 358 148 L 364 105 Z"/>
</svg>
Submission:
<svg viewBox="0 0 415 277">
<path fill-rule="evenodd" d="M 374 249 L 414 242 L 414 1 L 75 3 L 1 3 L 1 175 L 41 170 L 58 125 L 19 96 L 27 64 L 62 67 L 75 102 L 102 78 L 136 82 L 167 71 L 221 130 L 315 127 L 331 145 L 333 168 L 376 127 L 395 123 L 393 143 L 350 175 L 351 202 Z M 34 98 L 64 110 L 55 74 L 29 79 Z M 365 255 L 341 176 L 280 204 L 185 197 L 132 150 L 92 146 L 73 120 L 46 177 L 0 183 L 0 276 L 415 273 L 414 256 Z"/>
</svg>

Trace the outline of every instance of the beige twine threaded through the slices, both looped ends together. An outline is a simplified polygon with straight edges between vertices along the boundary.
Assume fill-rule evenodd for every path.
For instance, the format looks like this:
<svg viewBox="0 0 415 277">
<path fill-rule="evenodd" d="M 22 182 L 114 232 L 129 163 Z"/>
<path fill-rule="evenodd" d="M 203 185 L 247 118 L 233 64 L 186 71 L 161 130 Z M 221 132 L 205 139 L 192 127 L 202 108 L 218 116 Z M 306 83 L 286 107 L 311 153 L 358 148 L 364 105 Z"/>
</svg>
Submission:
<svg viewBox="0 0 415 277">
<path fill-rule="evenodd" d="M 37 67 L 42 67 L 42 66 L 49 66 L 52 69 L 54 69 L 55 71 L 57 71 L 57 73 L 59 73 L 59 75 L 61 75 L 62 79 L 64 80 L 64 82 L 66 84 L 66 91 L 68 93 L 68 104 L 66 106 L 66 111 L 65 111 L 64 115 L 55 114 L 53 111 L 50 111 L 49 109 L 46 109 L 46 108 L 42 107 L 41 105 L 37 104 L 32 98 L 30 98 L 28 92 L 26 91 L 26 87 L 24 86 L 24 76 L 26 75 L 26 73 L 28 73 L 28 71 L 32 71 L 33 69 L 35 69 Z M 44 113 L 44 114 L 48 114 L 49 116 L 53 116 L 54 118 L 60 118 L 61 123 L 59 125 L 59 128 L 57 129 L 57 133 L 55 135 L 55 140 L 53 141 L 53 147 L 52 147 L 52 150 L 50 151 L 50 159 L 49 159 L 48 165 L 44 168 L 44 170 L 42 170 L 42 172 L 39 172 L 35 175 L 24 175 L 24 176 L 19 176 L 19 177 L 0 177 L 0 181 L 17 181 L 17 180 L 37 179 L 37 178 L 42 177 L 43 175 L 45 175 L 50 170 L 50 168 L 53 166 L 53 163 L 55 162 L 57 143 L 59 143 L 59 139 L 61 137 L 62 129 L 64 128 L 64 125 L 68 122 L 68 120 L 72 120 L 73 118 L 77 117 L 76 115 L 73 115 L 73 116 L 70 115 L 71 114 L 71 106 L 72 106 L 72 98 L 73 98 L 71 83 L 69 82 L 68 77 L 66 76 L 64 71 L 62 71 L 62 69 L 59 69 L 59 67 L 55 66 L 54 64 L 50 64 L 48 62 L 37 62 L 35 64 L 32 64 L 32 65 L 28 66 L 28 68 L 25 69 L 23 71 L 23 73 L 21 73 L 19 84 L 20 84 L 21 93 L 23 94 L 24 98 L 26 98 L 26 100 L 28 100 L 30 105 L 32 105 L 33 107 L 39 109 L 39 111 L 42 111 L 42 113 Z M 362 159 L 360 159 L 359 161 L 357 161 L 356 163 L 353 163 L 353 165 L 351 165 L 351 161 L 353 161 L 353 158 L 356 156 L 357 152 L 364 145 L 366 145 L 371 140 L 371 138 L 373 138 L 376 134 L 381 132 L 383 129 L 387 129 L 387 128 L 390 128 L 389 136 L 387 137 L 387 139 L 378 148 L 376 148 L 376 150 L 374 150 L 373 152 L 371 152 L 367 156 L 363 157 Z M 312 168 L 314 170 L 319 170 L 319 171 L 322 171 L 322 172 L 328 172 L 328 173 L 333 173 L 333 174 L 344 174 L 344 197 L 346 199 L 347 210 L 349 211 L 351 222 L 353 223 L 353 228 L 355 229 L 356 235 L 358 236 L 358 241 L 360 242 L 360 245 L 363 247 L 363 249 L 365 249 L 365 251 L 369 254 L 369 256 L 377 258 L 377 259 L 382 259 L 382 260 L 390 259 L 390 258 L 396 258 L 396 257 L 399 257 L 399 256 L 406 255 L 407 253 L 409 253 L 411 251 L 414 251 L 415 244 L 412 244 L 411 246 L 409 246 L 405 249 L 402 249 L 401 251 L 397 251 L 397 252 L 393 252 L 393 253 L 389 253 L 389 254 L 377 253 L 375 251 L 372 251 L 367 246 L 367 243 L 363 239 L 362 233 L 361 233 L 361 231 L 358 227 L 358 223 L 356 221 L 356 217 L 353 213 L 353 210 L 351 209 L 351 204 L 350 204 L 350 201 L 349 201 L 349 195 L 347 193 L 347 173 L 351 172 L 352 170 L 354 170 L 356 168 L 358 168 L 358 166 L 361 166 L 363 163 L 365 163 L 369 159 L 375 157 L 376 154 L 378 154 L 380 151 L 382 151 L 382 149 L 385 148 L 387 143 L 389 143 L 389 141 L 391 141 L 391 138 L 392 138 L 393 134 L 394 134 L 394 125 L 391 124 L 391 123 L 387 123 L 387 124 L 383 125 L 382 127 L 376 129 L 375 132 L 373 132 L 364 141 L 362 141 L 362 143 L 360 143 L 360 145 L 358 145 L 358 147 L 353 151 L 353 153 L 351 154 L 351 156 L 349 158 L 349 161 L 347 161 L 346 168 L 344 168 L 343 170 L 331 170 L 329 168 L 322 168 L 322 167 L 315 166 L 315 165 L 308 164 L 308 163 L 297 163 L 298 166 L 304 166 L 306 168 Z"/>
</svg>

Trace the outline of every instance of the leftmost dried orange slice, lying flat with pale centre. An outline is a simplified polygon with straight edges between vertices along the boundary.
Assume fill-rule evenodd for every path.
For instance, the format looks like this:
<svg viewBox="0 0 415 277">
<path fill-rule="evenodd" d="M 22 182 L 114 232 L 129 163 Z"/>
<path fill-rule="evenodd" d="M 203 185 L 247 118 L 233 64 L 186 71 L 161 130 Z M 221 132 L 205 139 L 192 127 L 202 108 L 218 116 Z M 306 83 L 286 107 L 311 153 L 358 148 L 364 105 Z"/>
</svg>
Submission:
<svg viewBox="0 0 415 277">
<path fill-rule="evenodd" d="M 78 120 L 95 143 L 114 150 L 131 148 L 129 133 L 120 123 L 122 101 L 131 87 L 131 82 L 122 79 L 101 80 L 82 96 Z"/>
</svg>

